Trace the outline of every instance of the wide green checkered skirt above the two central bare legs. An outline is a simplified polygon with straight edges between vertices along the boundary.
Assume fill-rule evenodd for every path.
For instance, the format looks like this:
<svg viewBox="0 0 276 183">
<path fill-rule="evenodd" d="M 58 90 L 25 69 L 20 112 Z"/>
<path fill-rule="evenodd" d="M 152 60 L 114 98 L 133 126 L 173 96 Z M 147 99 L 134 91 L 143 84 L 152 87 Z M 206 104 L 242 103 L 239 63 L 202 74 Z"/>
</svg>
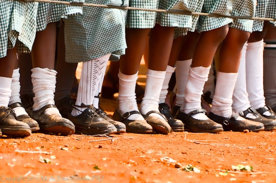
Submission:
<svg viewBox="0 0 276 183">
<path fill-rule="evenodd" d="M 129 6 L 194 12 L 201 0 L 130 0 Z M 128 10 L 126 28 L 153 28 L 155 24 L 167 27 L 192 28 L 192 17 L 174 13 L 156 13 Z"/>
</svg>

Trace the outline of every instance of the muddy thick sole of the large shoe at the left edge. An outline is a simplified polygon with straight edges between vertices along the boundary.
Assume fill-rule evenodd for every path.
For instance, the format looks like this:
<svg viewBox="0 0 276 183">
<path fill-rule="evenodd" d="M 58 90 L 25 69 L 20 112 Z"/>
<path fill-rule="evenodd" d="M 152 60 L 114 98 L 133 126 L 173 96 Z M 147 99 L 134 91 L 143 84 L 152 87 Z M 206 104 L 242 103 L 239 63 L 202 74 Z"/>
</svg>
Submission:
<svg viewBox="0 0 276 183">
<path fill-rule="evenodd" d="M 7 128 L 0 126 L 3 135 L 14 136 L 14 137 L 26 137 L 32 134 L 32 130 L 29 128 Z"/>
</svg>

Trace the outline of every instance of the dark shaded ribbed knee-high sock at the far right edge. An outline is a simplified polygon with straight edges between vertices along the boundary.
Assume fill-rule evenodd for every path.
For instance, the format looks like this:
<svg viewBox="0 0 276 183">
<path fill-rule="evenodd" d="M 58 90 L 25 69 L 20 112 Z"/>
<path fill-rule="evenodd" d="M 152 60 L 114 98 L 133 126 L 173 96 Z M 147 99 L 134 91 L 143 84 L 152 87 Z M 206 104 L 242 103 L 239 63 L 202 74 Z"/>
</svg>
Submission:
<svg viewBox="0 0 276 183">
<path fill-rule="evenodd" d="M 275 40 L 276 42 L 276 40 Z M 276 44 L 274 50 L 264 51 L 264 94 L 266 104 L 276 106 Z"/>
</svg>

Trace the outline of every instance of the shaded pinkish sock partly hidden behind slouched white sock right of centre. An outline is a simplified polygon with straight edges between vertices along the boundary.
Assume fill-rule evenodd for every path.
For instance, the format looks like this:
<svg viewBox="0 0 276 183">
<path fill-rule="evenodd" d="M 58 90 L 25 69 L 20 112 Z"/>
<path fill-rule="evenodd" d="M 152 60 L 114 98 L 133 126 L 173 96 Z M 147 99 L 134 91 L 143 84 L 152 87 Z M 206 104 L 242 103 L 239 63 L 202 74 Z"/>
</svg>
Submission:
<svg viewBox="0 0 276 183">
<path fill-rule="evenodd" d="M 176 61 L 175 77 L 176 77 L 176 106 L 182 106 L 184 101 L 184 90 L 188 80 L 190 65 L 192 59 Z"/>
</svg>

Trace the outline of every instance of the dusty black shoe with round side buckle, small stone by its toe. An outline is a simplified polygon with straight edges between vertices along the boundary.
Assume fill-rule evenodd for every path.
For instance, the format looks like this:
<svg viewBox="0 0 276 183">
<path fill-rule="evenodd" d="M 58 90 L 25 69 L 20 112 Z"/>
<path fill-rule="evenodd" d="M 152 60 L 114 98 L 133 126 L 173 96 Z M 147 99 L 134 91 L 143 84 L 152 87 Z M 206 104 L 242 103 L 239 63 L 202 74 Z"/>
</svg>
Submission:
<svg viewBox="0 0 276 183">
<path fill-rule="evenodd" d="M 247 119 L 244 119 L 243 121 L 237 120 L 237 118 L 239 117 L 239 113 L 233 112 L 231 118 L 224 118 L 222 116 L 218 116 L 212 112 L 209 112 L 208 117 L 213 121 L 221 124 L 224 131 L 232 130 L 233 132 L 243 132 L 243 130 L 249 130 L 252 132 L 259 132 L 264 130 L 263 123 L 250 121 Z"/>
</svg>

